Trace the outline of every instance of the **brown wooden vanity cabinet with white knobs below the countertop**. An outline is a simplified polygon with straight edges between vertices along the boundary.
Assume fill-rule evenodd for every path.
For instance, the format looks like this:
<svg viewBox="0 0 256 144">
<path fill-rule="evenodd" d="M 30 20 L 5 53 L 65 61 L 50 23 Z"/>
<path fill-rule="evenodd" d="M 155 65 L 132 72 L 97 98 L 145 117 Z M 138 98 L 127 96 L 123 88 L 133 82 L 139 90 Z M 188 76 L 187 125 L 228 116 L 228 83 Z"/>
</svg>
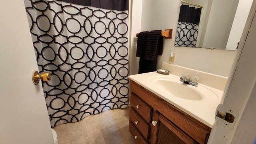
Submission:
<svg viewBox="0 0 256 144">
<path fill-rule="evenodd" d="M 211 128 L 130 80 L 129 131 L 138 144 L 206 144 Z"/>
</svg>

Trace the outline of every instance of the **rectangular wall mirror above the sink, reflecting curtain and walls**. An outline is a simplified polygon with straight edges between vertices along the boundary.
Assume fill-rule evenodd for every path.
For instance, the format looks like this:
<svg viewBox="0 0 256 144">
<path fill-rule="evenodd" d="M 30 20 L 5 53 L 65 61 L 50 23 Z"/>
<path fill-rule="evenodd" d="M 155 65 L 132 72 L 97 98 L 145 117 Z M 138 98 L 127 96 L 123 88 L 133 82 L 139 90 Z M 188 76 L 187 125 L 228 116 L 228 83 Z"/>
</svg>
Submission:
<svg viewBox="0 0 256 144">
<path fill-rule="evenodd" d="M 253 0 L 181 0 L 175 46 L 236 50 Z"/>
</svg>

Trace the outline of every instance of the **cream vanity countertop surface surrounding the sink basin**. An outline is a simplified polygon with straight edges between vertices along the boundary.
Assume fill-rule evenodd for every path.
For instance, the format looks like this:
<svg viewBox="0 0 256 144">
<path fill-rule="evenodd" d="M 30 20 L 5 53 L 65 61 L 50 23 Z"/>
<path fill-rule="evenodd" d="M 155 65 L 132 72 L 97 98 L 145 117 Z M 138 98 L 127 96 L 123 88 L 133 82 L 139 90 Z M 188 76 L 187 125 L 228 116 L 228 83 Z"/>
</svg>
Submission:
<svg viewBox="0 0 256 144">
<path fill-rule="evenodd" d="M 175 107 L 179 108 L 180 110 L 186 112 L 190 116 L 196 118 L 200 122 L 212 128 L 215 121 L 215 111 L 217 106 L 220 104 L 220 100 L 223 94 L 222 90 L 199 83 L 198 87 L 205 87 L 216 94 L 216 99 L 214 101 L 206 102 L 206 101 L 193 101 L 193 100 L 182 99 L 179 97 L 166 95 L 164 91 L 159 90 L 156 87 L 156 85 L 154 85 L 154 83 L 150 81 L 151 77 L 156 77 L 156 76 L 160 76 L 160 77 L 164 76 L 164 77 L 172 77 L 172 78 L 175 77 L 177 79 L 180 78 L 179 76 L 176 76 L 176 75 L 172 75 L 172 74 L 162 75 L 157 72 L 130 75 L 129 78 L 132 81 L 141 85 L 142 87 L 148 89 L 152 93 L 158 95 L 168 103 L 174 105 Z M 170 89 L 172 88 L 170 87 Z"/>
</svg>

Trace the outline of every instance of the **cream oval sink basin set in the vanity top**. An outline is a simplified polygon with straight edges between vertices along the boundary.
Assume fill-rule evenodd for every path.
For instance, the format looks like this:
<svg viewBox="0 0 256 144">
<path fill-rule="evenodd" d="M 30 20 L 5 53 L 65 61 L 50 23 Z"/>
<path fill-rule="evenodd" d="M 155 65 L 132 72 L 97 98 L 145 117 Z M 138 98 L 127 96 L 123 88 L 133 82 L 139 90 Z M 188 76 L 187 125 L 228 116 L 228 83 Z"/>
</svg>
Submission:
<svg viewBox="0 0 256 144">
<path fill-rule="evenodd" d="M 190 101 L 204 101 L 213 103 L 218 101 L 218 96 L 203 85 L 198 87 L 182 83 L 178 77 L 158 76 L 150 77 L 149 82 L 153 83 L 154 88 L 168 97 Z"/>
</svg>

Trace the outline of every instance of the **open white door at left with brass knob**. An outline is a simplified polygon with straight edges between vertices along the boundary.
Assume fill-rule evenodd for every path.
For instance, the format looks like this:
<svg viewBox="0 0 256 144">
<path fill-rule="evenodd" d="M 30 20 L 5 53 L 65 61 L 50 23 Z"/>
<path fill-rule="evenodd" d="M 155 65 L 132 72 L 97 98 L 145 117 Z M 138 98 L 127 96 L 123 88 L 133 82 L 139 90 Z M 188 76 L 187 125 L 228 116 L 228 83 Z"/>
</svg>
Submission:
<svg viewBox="0 0 256 144">
<path fill-rule="evenodd" d="M 53 144 L 23 0 L 0 2 L 0 144 Z"/>
</svg>

